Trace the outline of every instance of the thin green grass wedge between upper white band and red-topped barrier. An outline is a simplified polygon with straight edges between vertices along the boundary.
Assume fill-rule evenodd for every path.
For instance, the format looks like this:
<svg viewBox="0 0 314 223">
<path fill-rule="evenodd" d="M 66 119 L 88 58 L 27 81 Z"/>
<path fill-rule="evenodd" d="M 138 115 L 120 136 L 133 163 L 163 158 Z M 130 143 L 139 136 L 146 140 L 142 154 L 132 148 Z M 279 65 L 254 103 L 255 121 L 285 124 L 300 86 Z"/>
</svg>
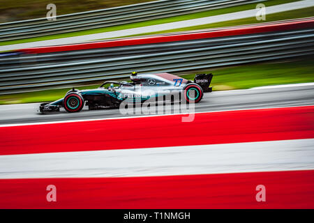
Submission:
<svg viewBox="0 0 314 223">
<path fill-rule="evenodd" d="M 244 18 L 240 20 L 230 20 L 227 22 L 216 22 L 212 24 L 204 24 L 200 26 L 190 26 L 181 29 L 169 29 L 165 31 L 158 31 L 158 32 L 151 32 L 151 33 L 142 33 L 141 36 L 144 35 L 152 35 L 152 34 L 160 34 L 160 33 L 172 33 L 172 32 L 179 32 L 179 31 L 191 31 L 191 30 L 199 30 L 199 29 L 210 29 L 210 28 L 217 28 L 217 27 L 226 27 L 226 26 L 239 26 L 245 24 L 258 24 L 263 22 L 274 22 L 278 20 L 292 20 L 302 17 L 312 17 L 314 16 L 314 6 L 308 8 L 301 8 L 297 10 L 290 10 L 285 11 L 282 13 L 274 13 L 266 15 L 265 21 L 257 21 L 255 17 Z M 138 36 L 138 35 L 131 35 L 131 36 Z M 122 37 L 130 37 L 130 36 L 122 36 Z"/>
</svg>

